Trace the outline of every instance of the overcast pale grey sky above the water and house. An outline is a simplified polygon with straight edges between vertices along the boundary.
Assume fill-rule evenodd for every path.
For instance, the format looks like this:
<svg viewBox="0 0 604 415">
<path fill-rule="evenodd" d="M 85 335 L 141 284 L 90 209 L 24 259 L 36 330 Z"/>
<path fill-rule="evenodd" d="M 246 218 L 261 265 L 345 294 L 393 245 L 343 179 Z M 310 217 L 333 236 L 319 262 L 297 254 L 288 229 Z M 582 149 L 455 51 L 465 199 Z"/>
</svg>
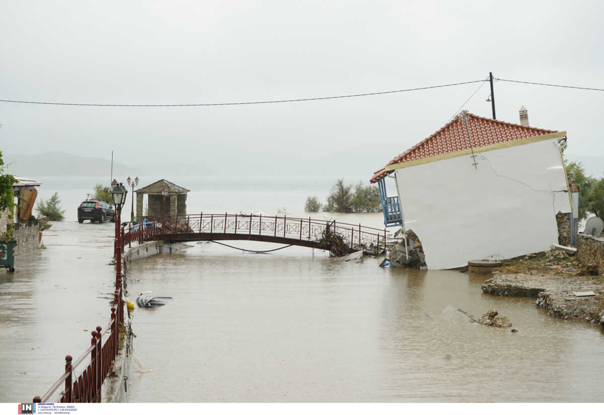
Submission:
<svg viewBox="0 0 604 415">
<path fill-rule="evenodd" d="M 0 98 L 181 104 L 495 77 L 604 88 L 600 1 L 3 1 Z M 0 103 L 4 153 L 61 150 L 210 170 L 367 172 L 442 127 L 480 84 L 269 105 Z M 489 84 L 464 106 L 491 116 Z M 604 155 L 604 92 L 495 84 L 497 118 Z"/>
</svg>

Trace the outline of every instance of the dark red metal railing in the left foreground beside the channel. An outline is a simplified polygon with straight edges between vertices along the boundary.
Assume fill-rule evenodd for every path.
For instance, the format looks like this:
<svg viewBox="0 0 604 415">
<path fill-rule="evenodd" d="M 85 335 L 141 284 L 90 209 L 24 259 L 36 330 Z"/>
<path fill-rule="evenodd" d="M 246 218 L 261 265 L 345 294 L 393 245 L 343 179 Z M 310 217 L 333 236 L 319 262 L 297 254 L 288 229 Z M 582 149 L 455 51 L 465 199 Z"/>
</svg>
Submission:
<svg viewBox="0 0 604 415">
<path fill-rule="evenodd" d="M 121 290 L 120 286 L 114 292 L 114 306 L 111 307 L 109 324 L 104 329 L 97 326 L 92 331 L 90 347 L 76 361 L 72 361 L 69 355 L 65 356 L 65 373 L 42 397 L 34 397 L 33 402 L 101 402 L 101 385 L 111 371 L 112 362 L 115 361 L 120 341 L 120 326 L 124 322 Z M 88 362 L 88 365 L 77 375 L 77 367 L 84 362 Z"/>
</svg>

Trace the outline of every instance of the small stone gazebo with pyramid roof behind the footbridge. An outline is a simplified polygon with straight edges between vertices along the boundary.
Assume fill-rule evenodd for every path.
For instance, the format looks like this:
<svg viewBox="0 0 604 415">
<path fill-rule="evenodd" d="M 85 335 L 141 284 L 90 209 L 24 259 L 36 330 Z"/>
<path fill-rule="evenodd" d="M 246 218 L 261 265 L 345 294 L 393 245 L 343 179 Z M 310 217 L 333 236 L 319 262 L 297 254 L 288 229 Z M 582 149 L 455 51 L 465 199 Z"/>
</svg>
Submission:
<svg viewBox="0 0 604 415">
<path fill-rule="evenodd" d="M 137 220 L 143 216 L 161 216 L 164 197 L 161 189 L 167 188 L 168 196 L 165 198 L 165 215 L 187 214 L 187 192 L 184 187 L 175 185 L 165 179 L 161 179 L 148 186 L 135 190 L 137 193 Z M 143 196 L 147 195 L 149 213 L 143 215 Z"/>
</svg>

